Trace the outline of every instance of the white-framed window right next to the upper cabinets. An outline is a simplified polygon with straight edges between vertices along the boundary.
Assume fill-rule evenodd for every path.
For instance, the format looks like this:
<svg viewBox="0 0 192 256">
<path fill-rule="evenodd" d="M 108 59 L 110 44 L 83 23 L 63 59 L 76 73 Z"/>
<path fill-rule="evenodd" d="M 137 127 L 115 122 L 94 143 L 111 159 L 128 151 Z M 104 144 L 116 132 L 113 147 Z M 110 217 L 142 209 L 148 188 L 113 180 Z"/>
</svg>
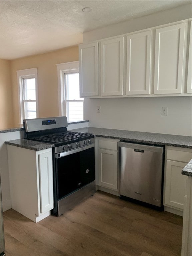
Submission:
<svg viewBox="0 0 192 256">
<path fill-rule="evenodd" d="M 68 122 L 82 121 L 84 99 L 79 97 L 79 62 L 57 65 L 59 115 L 67 116 Z"/>
</svg>

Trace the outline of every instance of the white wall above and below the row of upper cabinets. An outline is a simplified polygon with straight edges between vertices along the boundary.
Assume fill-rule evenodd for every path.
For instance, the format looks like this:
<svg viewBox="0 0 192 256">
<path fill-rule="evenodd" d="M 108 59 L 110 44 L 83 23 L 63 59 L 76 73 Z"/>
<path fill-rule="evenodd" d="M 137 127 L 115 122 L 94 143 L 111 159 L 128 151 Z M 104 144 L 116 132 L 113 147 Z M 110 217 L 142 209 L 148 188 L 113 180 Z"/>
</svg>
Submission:
<svg viewBox="0 0 192 256">
<path fill-rule="evenodd" d="M 83 43 L 191 17 L 191 4 L 83 33 Z M 85 99 L 89 126 L 191 136 L 191 97 Z M 101 106 L 101 113 L 96 107 Z M 168 115 L 161 108 L 168 107 Z"/>
</svg>

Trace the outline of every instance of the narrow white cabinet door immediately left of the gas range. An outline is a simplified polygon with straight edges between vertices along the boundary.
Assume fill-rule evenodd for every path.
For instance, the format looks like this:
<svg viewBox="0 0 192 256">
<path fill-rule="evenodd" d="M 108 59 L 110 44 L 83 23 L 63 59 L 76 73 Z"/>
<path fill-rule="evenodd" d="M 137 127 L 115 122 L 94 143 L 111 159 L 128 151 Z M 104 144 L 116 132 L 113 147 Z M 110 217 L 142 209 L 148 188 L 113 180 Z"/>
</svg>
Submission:
<svg viewBox="0 0 192 256">
<path fill-rule="evenodd" d="M 39 154 L 40 211 L 53 209 L 52 153 Z"/>
</svg>

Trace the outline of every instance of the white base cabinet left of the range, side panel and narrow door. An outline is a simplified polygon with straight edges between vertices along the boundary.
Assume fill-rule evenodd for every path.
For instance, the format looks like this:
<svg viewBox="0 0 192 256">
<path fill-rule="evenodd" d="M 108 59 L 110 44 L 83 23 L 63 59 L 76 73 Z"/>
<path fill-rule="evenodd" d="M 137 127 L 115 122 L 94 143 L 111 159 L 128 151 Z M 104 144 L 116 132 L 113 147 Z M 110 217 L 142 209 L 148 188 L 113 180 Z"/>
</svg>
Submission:
<svg viewBox="0 0 192 256">
<path fill-rule="evenodd" d="M 53 209 L 52 148 L 7 145 L 12 209 L 38 222 Z"/>
</svg>

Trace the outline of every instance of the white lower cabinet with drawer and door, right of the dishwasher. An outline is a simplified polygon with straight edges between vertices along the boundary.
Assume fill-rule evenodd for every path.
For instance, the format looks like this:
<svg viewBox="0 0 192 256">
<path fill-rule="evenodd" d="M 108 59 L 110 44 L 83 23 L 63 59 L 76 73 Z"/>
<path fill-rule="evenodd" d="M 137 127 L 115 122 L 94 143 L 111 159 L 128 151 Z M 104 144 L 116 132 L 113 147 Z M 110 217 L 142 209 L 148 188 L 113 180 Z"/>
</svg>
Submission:
<svg viewBox="0 0 192 256">
<path fill-rule="evenodd" d="M 191 160 L 191 149 L 166 146 L 164 174 L 164 206 L 183 211 L 187 176 L 181 171 Z M 168 209 L 166 208 L 168 207 Z M 172 211 L 173 213 L 177 213 Z"/>
</svg>

